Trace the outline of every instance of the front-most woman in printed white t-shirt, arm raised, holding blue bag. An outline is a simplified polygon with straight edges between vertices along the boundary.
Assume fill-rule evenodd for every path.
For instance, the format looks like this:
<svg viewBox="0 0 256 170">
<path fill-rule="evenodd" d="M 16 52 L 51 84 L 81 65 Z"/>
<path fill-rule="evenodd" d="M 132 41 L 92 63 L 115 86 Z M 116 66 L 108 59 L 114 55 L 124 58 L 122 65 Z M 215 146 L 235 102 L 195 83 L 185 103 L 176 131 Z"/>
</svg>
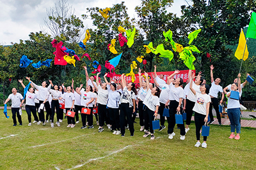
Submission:
<svg viewBox="0 0 256 170">
<path fill-rule="evenodd" d="M 189 74 L 191 76 L 191 81 L 189 84 L 189 89 L 196 97 L 195 106 L 193 107 L 193 111 L 195 111 L 195 125 L 196 125 L 196 147 L 201 145 L 200 143 L 200 130 L 205 122 L 208 121 L 209 115 L 209 107 L 211 103 L 211 97 L 207 94 L 209 92 L 209 86 L 206 84 L 200 85 L 200 92 L 197 92 L 193 89 L 193 79 L 195 78 L 195 74 Z M 202 148 L 206 148 L 207 136 L 204 136 L 204 143 L 202 143 Z"/>
</svg>

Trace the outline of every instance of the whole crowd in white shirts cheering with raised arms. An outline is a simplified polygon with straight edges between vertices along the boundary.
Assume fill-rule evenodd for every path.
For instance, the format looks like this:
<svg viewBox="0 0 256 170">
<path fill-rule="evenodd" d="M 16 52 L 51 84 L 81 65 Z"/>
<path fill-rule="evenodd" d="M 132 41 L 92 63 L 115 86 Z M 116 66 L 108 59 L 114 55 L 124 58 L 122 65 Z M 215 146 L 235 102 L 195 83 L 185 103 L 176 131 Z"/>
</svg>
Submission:
<svg viewBox="0 0 256 170">
<path fill-rule="evenodd" d="M 67 127 L 74 128 L 79 123 L 79 113 L 81 113 L 81 122 L 83 123 L 81 129 L 94 128 L 94 115 L 97 125 L 99 125 L 99 132 L 107 128 L 113 131 L 113 134 L 124 137 L 125 130 L 129 129 L 130 135 L 134 136 L 134 120 L 138 113 L 140 131 L 144 132 L 143 137 L 150 136 L 150 139 L 155 139 L 152 121 L 159 114 L 160 128 L 158 131 L 161 132 L 166 128 L 164 123 L 165 118 L 167 118 L 168 138 L 173 139 L 175 136 L 173 129 L 176 124 L 175 114 L 182 115 L 186 112 L 186 124 L 184 122 L 183 124 L 177 124 L 180 129 L 180 139 L 184 140 L 186 133 L 189 131 L 191 117 L 195 112 L 195 146 L 199 147 L 201 145 L 206 148 L 207 136 L 204 136 L 204 141 L 201 144 L 200 131 L 202 131 L 202 126 L 206 122 L 209 122 L 209 124 L 214 122 L 212 106 L 216 111 L 218 124 L 221 125 L 221 115 L 218 109 L 218 93 L 220 92 L 220 104 L 223 103 L 225 95 L 227 95 L 228 99 L 227 113 L 231 127 L 231 134 L 228 138 L 239 139 L 241 133 L 241 124 L 239 122 L 241 101 L 230 97 L 230 94 L 232 91 L 236 91 L 241 97 L 242 89 L 247 81 L 241 83 L 241 74 L 238 74 L 234 82 L 223 90 L 220 86 L 220 78 L 214 80 L 212 73 L 214 67 L 212 65 L 210 69 L 211 87 L 206 84 L 201 72 L 195 76 L 195 73 L 191 70 L 189 70 L 186 86 L 184 86 L 182 78 L 173 78 L 175 74 L 179 73 L 179 70 L 175 70 L 172 75 L 167 77 L 167 81 L 164 81 L 163 74 L 157 75 L 156 66 L 154 74 L 152 74 L 154 83 L 150 83 L 148 73 L 141 73 L 141 69 L 138 72 L 139 84 L 127 82 L 124 74 L 122 74 L 120 80 L 112 80 L 110 78 L 108 81 L 106 73 L 104 74 L 104 81 L 101 81 L 99 78 L 100 73 L 97 73 L 95 80 L 94 76 L 89 77 L 85 66 L 86 87 L 81 84 L 76 89 L 74 89 L 74 80 L 72 80 L 72 85 L 66 88 L 64 85 L 54 85 L 51 80 L 49 80 L 48 86 L 46 81 L 42 82 L 42 85 L 36 85 L 29 77 L 26 77 L 31 82 L 31 88 L 26 93 L 25 106 L 28 113 L 28 125 L 31 126 L 32 123 L 45 125 L 47 122 L 51 122 L 51 127 L 54 127 L 56 113 L 55 122 L 60 127 L 64 113 L 66 113 Z M 25 89 L 26 86 L 23 81 L 19 80 L 19 82 Z M 4 104 L 10 100 L 12 100 L 13 126 L 17 125 L 16 116 L 19 120 L 19 125 L 22 125 L 19 110 L 25 99 L 17 92 L 17 89 L 13 88 L 12 94 L 8 96 Z M 168 108 L 169 117 L 164 117 L 164 108 Z M 46 111 L 46 116 L 44 110 Z M 34 122 L 31 122 L 31 113 L 34 117 Z"/>
</svg>

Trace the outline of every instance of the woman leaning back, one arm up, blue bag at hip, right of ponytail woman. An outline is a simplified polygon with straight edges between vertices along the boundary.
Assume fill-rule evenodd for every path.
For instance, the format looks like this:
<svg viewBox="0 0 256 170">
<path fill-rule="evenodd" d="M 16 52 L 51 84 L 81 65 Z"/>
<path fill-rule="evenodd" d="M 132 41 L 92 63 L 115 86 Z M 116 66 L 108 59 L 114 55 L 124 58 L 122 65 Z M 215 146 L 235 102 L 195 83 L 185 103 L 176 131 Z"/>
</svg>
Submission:
<svg viewBox="0 0 256 170">
<path fill-rule="evenodd" d="M 158 87 L 154 87 L 150 90 L 149 81 L 148 81 L 148 73 L 145 73 L 146 81 L 147 81 L 147 95 L 143 104 L 145 105 L 145 134 L 143 135 L 146 138 L 148 135 L 151 135 L 150 139 L 155 139 L 154 130 L 152 129 L 152 121 L 157 117 L 157 112 L 160 106 L 159 96 L 160 89 Z M 150 132 L 148 129 L 150 127 Z"/>
</svg>

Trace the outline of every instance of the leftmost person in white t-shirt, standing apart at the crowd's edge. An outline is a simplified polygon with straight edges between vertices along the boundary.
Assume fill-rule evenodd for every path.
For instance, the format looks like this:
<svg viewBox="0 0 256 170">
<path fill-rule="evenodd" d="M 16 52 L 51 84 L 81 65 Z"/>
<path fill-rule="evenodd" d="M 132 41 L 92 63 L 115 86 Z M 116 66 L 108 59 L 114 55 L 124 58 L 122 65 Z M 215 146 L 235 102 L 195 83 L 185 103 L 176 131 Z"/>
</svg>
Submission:
<svg viewBox="0 0 256 170">
<path fill-rule="evenodd" d="M 13 88 L 12 89 L 12 94 L 8 96 L 4 104 L 8 103 L 8 101 L 12 100 L 12 119 L 13 119 L 13 126 L 17 125 L 17 120 L 16 120 L 16 113 L 17 117 L 19 120 L 20 125 L 22 125 L 22 119 L 19 113 L 20 108 L 22 107 L 22 104 L 24 103 L 23 96 L 20 93 L 17 93 L 17 89 Z M 20 100 L 21 103 L 20 103 Z"/>
</svg>

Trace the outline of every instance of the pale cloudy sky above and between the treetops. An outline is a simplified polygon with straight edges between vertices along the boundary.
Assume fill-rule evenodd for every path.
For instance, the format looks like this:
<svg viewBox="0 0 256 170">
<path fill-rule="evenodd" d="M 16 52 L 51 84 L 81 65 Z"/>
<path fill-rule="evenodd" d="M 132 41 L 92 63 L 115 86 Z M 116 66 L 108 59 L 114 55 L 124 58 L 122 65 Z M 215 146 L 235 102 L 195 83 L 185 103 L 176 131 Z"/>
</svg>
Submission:
<svg viewBox="0 0 256 170">
<path fill-rule="evenodd" d="M 136 18 L 134 8 L 140 5 L 139 0 L 123 0 L 127 6 L 131 18 Z M 0 0 L 0 45 L 19 43 L 19 40 L 29 39 L 30 32 L 49 32 L 45 27 L 44 19 L 47 18 L 46 10 L 54 7 L 58 0 Z M 113 4 L 121 3 L 117 0 L 68 0 L 75 9 L 75 15 L 81 18 L 86 14 L 86 8 L 106 8 Z M 184 0 L 174 0 L 173 6 L 168 8 L 169 12 L 181 15 L 180 6 L 187 4 Z M 82 18 L 81 18 L 82 20 Z M 92 20 L 84 20 L 84 25 L 93 27 Z"/>
</svg>

